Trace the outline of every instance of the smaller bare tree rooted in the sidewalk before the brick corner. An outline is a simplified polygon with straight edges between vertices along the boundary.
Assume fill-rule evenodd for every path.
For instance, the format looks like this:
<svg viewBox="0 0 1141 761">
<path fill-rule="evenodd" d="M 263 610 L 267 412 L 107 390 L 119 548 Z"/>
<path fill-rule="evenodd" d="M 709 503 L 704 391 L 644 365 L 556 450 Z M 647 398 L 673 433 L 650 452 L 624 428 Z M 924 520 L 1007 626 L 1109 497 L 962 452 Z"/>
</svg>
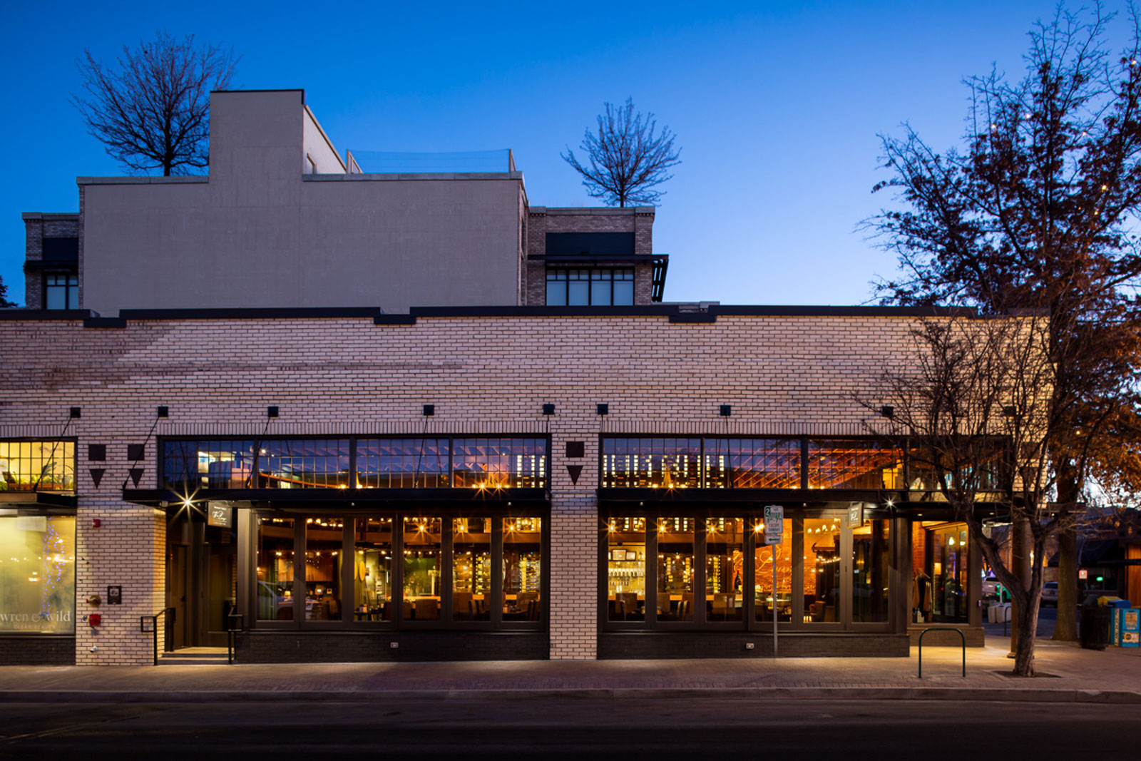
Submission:
<svg viewBox="0 0 1141 761">
<path fill-rule="evenodd" d="M 1053 501 L 1058 471 L 1051 453 L 1066 447 L 1089 456 L 1069 424 L 1066 407 L 1075 399 L 1059 404 L 1053 391 L 1050 318 L 931 319 L 912 338 L 915 361 L 885 372 L 877 398 L 864 404 L 892 406 L 892 436 L 908 448 L 919 475 L 909 486 L 923 495 L 908 499 L 949 505 L 1010 591 L 1014 673 L 1030 677 L 1042 559 L 1047 541 L 1081 513 L 1075 503 Z M 989 531 L 995 521 L 1012 524 L 1009 562 Z"/>
</svg>

